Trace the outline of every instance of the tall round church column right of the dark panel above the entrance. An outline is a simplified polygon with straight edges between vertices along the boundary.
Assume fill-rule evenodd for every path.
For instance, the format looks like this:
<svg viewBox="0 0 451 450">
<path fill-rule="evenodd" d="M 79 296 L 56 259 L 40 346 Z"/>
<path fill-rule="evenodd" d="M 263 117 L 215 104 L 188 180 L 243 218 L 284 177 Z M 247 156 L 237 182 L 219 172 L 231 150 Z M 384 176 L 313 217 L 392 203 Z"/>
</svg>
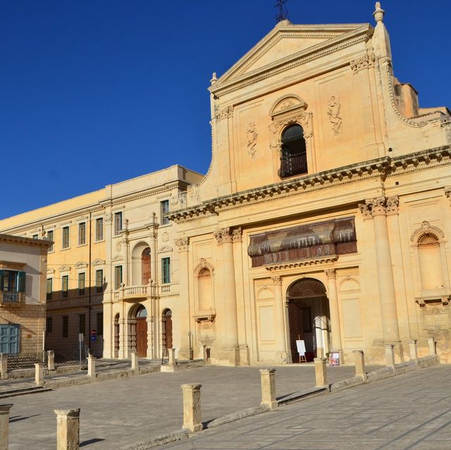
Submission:
<svg viewBox="0 0 451 450">
<path fill-rule="evenodd" d="M 377 199 L 366 200 L 366 205 L 371 209 L 373 216 L 383 340 L 384 342 L 398 342 L 400 335 L 397 325 L 393 263 L 390 254 L 390 242 L 388 241 L 387 199 L 381 196 Z"/>
</svg>

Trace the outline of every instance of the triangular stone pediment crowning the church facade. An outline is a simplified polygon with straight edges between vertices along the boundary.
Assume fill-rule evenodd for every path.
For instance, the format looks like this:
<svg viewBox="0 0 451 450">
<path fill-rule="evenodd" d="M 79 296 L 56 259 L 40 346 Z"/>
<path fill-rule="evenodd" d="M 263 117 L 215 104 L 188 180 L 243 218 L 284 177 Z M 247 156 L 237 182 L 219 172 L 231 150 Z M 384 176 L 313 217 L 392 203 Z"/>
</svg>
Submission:
<svg viewBox="0 0 451 450">
<path fill-rule="evenodd" d="M 211 87 L 212 91 L 230 81 L 246 75 L 268 70 L 287 59 L 295 59 L 311 51 L 321 51 L 328 43 L 335 44 L 341 38 L 352 37 L 355 32 L 370 32 L 369 24 L 344 25 L 293 25 L 284 20 L 237 61 Z"/>
</svg>

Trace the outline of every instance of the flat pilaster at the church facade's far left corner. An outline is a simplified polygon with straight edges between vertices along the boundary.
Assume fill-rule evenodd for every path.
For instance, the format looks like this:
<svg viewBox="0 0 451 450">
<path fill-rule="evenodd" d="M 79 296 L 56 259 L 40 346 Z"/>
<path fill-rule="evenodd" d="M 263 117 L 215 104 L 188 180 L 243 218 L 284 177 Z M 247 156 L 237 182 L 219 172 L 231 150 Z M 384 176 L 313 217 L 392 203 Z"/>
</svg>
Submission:
<svg viewBox="0 0 451 450">
<path fill-rule="evenodd" d="M 175 245 L 178 247 L 178 282 L 180 289 L 179 308 L 173 311 L 173 326 L 180 326 L 180 350 L 178 351 L 179 360 L 190 359 L 190 336 L 191 314 L 190 314 L 190 273 L 188 256 L 190 249 L 190 238 L 180 237 L 175 239 Z"/>
</svg>

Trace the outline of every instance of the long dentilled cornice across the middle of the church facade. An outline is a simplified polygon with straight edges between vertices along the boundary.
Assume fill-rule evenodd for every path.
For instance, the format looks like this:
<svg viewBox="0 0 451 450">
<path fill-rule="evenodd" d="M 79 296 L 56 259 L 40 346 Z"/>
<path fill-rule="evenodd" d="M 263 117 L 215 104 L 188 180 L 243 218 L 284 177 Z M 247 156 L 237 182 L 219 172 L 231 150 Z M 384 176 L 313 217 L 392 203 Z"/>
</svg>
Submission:
<svg viewBox="0 0 451 450">
<path fill-rule="evenodd" d="M 270 201 L 275 198 L 299 195 L 326 189 L 330 186 L 345 185 L 373 177 L 388 177 L 392 174 L 411 173 L 424 168 L 433 168 L 439 165 L 449 165 L 451 146 L 442 146 L 436 149 L 418 151 L 412 154 L 390 158 L 385 156 L 362 163 L 346 165 L 332 170 L 326 170 L 312 175 L 292 177 L 283 182 L 266 185 L 255 189 L 247 189 L 235 194 L 216 197 L 201 204 L 180 208 L 167 214 L 170 220 L 183 222 L 207 215 L 217 215 L 221 211 L 231 208 Z"/>
</svg>

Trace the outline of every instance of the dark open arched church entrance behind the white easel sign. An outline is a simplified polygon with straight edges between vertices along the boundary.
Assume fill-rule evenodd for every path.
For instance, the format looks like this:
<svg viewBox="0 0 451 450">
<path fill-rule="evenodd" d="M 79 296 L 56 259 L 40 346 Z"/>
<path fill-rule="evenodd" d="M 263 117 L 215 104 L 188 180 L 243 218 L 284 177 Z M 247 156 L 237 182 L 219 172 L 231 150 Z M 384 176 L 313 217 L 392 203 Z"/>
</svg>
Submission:
<svg viewBox="0 0 451 450">
<path fill-rule="evenodd" d="M 288 323 L 292 361 L 299 361 L 296 341 L 305 343 L 307 361 L 330 351 L 330 313 L 326 287 L 315 278 L 303 278 L 288 289 Z"/>
</svg>

